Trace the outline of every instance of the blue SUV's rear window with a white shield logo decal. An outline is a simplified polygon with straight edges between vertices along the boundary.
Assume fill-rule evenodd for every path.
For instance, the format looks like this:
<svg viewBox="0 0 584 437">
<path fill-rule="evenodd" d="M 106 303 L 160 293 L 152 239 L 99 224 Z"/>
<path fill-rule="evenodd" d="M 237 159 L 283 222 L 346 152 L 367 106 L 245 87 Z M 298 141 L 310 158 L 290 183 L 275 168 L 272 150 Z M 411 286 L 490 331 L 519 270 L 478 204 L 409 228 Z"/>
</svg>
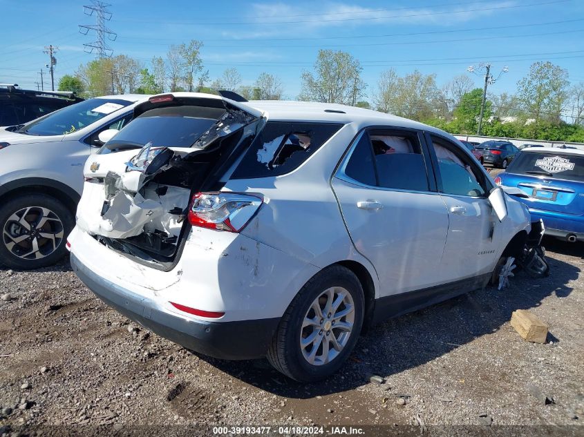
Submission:
<svg viewBox="0 0 584 437">
<path fill-rule="evenodd" d="M 523 152 L 511 162 L 507 172 L 584 182 L 584 155 Z"/>
</svg>

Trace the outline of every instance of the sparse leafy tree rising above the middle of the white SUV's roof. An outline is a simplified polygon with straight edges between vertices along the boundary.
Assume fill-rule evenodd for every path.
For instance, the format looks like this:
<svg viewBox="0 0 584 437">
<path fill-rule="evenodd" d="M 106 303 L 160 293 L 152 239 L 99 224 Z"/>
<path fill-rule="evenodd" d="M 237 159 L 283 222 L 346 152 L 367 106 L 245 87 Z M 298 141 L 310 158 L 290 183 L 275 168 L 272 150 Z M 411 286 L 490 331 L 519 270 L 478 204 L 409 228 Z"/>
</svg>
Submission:
<svg viewBox="0 0 584 437">
<path fill-rule="evenodd" d="M 319 50 L 314 73 L 302 73 L 300 100 L 357 104 L 366 87 L 361 79 L 361 63 L 342 50 Z"/>
</svg>

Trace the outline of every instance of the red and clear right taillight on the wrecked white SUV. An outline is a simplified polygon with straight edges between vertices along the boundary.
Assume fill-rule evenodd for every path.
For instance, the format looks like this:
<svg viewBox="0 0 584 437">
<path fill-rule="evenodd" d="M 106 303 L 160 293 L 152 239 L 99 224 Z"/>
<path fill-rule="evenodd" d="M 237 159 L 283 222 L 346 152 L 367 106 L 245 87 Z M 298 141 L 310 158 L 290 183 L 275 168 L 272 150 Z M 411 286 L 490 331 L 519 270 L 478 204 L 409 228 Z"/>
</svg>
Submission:
<svg viewBox="0 0 584 437">
<path fill-rule="evenodd" d="M 260 197 L 238 193 L 197 193 L 189 206 L 189 223 L 218 231 L 239 232 L 263 203 Z"/>
</svg>

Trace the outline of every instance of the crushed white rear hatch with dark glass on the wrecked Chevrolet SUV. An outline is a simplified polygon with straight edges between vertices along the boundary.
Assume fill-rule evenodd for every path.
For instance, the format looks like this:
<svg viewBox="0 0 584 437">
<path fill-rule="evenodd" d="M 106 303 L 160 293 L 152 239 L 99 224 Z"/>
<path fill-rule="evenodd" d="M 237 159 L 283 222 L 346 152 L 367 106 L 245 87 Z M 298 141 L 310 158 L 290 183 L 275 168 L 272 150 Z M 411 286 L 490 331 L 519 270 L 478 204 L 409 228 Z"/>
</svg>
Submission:
<svg viewBox="0 0 584 437">
<path fill-rule="evenodd" d="M 160 269 L 173 265 L 198 191 L 218 191 L 263 126 L 261 113 L 220 97 L 176 93 L 135 119 L 86 162 L 77 225 Z"/>
</svg>

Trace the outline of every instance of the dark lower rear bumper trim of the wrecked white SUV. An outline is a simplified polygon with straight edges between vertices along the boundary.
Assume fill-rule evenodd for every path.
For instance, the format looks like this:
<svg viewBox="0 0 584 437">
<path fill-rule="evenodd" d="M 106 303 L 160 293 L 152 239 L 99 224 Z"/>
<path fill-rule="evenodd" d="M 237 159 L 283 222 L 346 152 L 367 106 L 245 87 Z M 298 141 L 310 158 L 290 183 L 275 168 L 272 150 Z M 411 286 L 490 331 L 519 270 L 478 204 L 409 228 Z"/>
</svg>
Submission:
<svg viewBox="0 0 584 437">
<path fill-rule="evenodd" d="M 142 327 L 186 349 L 224 360 L 261 358 L 267 353 L 279 318 L 207 322 L 182 318 L 143 295 L 97 275 L 71 254 L 80 280 L 110 307 Z"/>
</svg>

